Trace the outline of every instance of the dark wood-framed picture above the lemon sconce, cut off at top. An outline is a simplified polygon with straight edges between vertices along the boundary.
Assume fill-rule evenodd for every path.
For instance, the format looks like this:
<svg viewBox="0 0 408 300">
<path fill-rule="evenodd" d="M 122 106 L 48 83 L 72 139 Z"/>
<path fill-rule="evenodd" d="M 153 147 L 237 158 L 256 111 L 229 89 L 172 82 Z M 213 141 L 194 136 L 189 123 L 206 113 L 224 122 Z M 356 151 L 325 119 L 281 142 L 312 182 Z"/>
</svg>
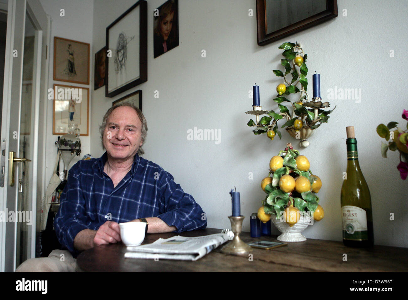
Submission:
<svg viewBox="0 0 408 300">
<path fill-rule="evenodd" d="M 256 0 L 258 45 L 338 16 L 337 0 Z"/>
</svg>

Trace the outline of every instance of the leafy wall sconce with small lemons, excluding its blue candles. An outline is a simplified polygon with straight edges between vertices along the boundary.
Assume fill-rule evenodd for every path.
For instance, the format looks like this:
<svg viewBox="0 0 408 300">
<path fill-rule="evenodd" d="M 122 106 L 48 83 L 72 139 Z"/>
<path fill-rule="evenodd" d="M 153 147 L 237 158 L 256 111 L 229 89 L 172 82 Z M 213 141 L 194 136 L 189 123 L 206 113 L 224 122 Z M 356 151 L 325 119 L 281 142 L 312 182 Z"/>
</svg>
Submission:
<svg viewBox="0 0 408 300">
<path fill-rule="evenodd" d="M 277 98 L 274 98 L 278 104 L 279 113 L 275 113 L 274 110 L 268 111 L 267 116 L 264 116 L 256 124 L 252 119 L 249 120 L 248 126 L 256 127 L 253 130 L 255 134 L 266 133 L 268 138 L 273 140 L 276 135 L 282 139 L 282 134 L 278 130 L 277 122 L 282 119 L 286 119 L 286 122 L 281 128 L 286 127 L 286 131 L 293 138 L 301 140 L 300 145 L 307 147 L 309 142 L 306 140 L 313 135 L 314 130 L 317 129 L 322 123 L 327 123 L 330 116 L 328 116 L 333 110 L 324 110 L 324 108 L 330 107 L 329 102 L 318 101 L 319 99 L 310 99 L 308 96 L 308 80 L 306 78 L 308 68 L 306 66 L 307 54 L 304 53 L 300 45 L 295 42 L 286 42 L 279 46 L 279 49 L 284 50 L 281 59 L 281 64 L 285 71 L 273 70 L 276 76 L 282 77 L 283 83 L 278 84 L 276 91 L 278 93 Z M 289 74 L 292 79 L 287 78 Z M 300 84 L 300 87 L 299 87 Z M 288 98 L 289 94 L 299 94 L 299 98 L 291 102 Z M 289 111 L 287 104 L 291 107 Z"/>
</svg>

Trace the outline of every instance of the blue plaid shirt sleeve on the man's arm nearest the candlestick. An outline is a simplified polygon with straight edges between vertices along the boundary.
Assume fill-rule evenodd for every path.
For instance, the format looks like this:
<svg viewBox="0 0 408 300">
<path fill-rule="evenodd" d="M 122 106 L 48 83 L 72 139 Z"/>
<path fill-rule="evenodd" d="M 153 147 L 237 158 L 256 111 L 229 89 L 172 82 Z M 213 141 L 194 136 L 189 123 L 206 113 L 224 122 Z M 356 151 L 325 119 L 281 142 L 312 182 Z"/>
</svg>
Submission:
<svg viewBox="0 0 408 300">
<path fill-rule="evenodd" d="M 159 196 L 165 212 L 157 216 L 169 226 L 175 226 L 177 232 L 204 229 L 207 218 L 193 196 L 184 193 L 180 184 L 166 171 L 159 175 Z"/>
</svg>

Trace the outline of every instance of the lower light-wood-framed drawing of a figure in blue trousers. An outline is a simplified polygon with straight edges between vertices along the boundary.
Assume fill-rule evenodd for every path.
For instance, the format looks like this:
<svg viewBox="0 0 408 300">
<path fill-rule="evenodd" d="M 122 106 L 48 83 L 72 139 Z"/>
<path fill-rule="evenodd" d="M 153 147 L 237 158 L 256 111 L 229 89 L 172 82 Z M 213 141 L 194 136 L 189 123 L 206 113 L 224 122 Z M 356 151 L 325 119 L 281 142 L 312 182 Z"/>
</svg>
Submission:
<svg viewBox="0 0 408 300">
<path fill-rule="evenodd" d="M 89 89 L 57 84 L 53 87 L 53 134 L 68 133 L 68 123 L 74 123 L 81 136 L 88 136 Z"/>
</svg>

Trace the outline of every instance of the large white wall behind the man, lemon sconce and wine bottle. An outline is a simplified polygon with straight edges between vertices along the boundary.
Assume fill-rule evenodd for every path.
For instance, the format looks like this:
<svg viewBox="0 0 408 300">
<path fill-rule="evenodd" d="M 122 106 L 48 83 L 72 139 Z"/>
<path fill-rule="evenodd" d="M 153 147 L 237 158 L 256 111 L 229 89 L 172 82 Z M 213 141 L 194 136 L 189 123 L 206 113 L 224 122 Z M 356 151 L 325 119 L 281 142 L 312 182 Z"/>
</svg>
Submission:
<svg viewBox="0 0 408 300">
<path fill-rule="evenodd" d="M 106 27 L 135 2 L 94 1 L 92 60 L 105 45 Z M 260 182 L 268 175 L 270 158 L 287 142 L 297 145 L 297 141 L 284 130 L 282 140 L 253 135 L 246 125 L 250 116 L 245 111 L 252 109 L 248 91 L 256 82 L 261 105 L 277 109 L 272 101 L 280 83 L 272 70 L 282 69 L 282 51 L 277 47 L 282 42 L 297 41 L 308 54 L 310 92 L 311 74 L 316 70 L 321 74 L 323 98 L 334 86 L 358 88 L 362 95 L 361 103 L 331 100 L 331 107 L 337 108 L 328 124 L 317 129 L 308 148 L 300 149 L 308 157 L 313 173 L 322 178 L 318 196 L 325 211 L 325 218 L 307 228 L 304 235 L 341 240 L 340 189 L 347 162 L 345 127 L 352 125 L 359 142 L 361 169 L 372 196 L 375 243 L 408 247 L 407 183 L 399 178 L 397 153 L 381 158 L 381 138 L 375 131 L 379 123 L 403 121 L 401 113 L 407 109 L 408 72 L 401 47 L 408 38 L 404 26 L 407 2 L 339 0 L 337 18 L 259 47 L 254 0 L 179 0 L 180 46 L 154 59 L 153 9 L 163 2 L 148 2 L 148 81 L 115 98 L 105 98 L 102 88 L 93 92 L 92 155 L 103 153 L 98 125 L 112 101 L 142 89 L 149 126 L 144 158 L 160 164 L 184 191 L 194 196 L 207 213 L 208 227 L 230 227 L 228 192 L 236 186 L 246 217 L 244 230 L 249 231 L 249 216 L 265 197 Z M 89 11 L 89 7 L 84 9 Z M 248 9 L 253 9 L 255 16 L 249 17 Z M 343 9 L 347 9 L 347 16 L 342 16 Z M 62 25 L 60 30 L 63 28 L 66 34 L 58 35 L 69 38 L 70 33 L 75 33 L 71 38 L 78 38 L 77 27 L 72 30 Z M 88 26 L 80 34 L 84 34 L 81 40 L 90 40 Z M 202 49 L 206 50 L 205 58 L 201 57 Z M 390 49 L 395 51 L 393 58 Z M 154 98 L 156 90 L 160 98 Z M 194 127 L 221 129 L 220 144 L 188 141 L 187 130 Z M 249 172 L 253 172 L 253 180 L 248 179 Z M 395 213 L 394 221 L 389 220 L 390 213 Z"/>
</svg>

